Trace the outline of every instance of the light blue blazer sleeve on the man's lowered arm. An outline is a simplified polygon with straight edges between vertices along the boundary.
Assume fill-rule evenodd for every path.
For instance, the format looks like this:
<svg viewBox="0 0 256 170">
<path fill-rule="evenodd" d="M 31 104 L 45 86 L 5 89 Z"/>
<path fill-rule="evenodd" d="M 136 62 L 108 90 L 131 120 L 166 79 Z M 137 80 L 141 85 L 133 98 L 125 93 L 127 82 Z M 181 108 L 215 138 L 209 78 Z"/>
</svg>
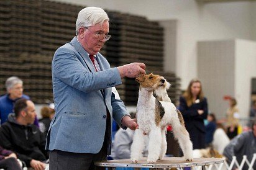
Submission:
<svg viewBox="0 0 256 170">
<path fill-rule="evenodd" d="M 117 94 L 115 94 L 115 93 L 112 92 L 112 96 L 111 96 L 113 118 L 114 118 L 114 120 L 116 120 L 117 124 L 120 127 L 125 128 L 121 125 L 122 117 L 124 117 L 124 115 L 130 116 L 130 114 L 127 112 L 124 102 L 122 102 L 119 97 L 116 97 Z"/>
</svg>

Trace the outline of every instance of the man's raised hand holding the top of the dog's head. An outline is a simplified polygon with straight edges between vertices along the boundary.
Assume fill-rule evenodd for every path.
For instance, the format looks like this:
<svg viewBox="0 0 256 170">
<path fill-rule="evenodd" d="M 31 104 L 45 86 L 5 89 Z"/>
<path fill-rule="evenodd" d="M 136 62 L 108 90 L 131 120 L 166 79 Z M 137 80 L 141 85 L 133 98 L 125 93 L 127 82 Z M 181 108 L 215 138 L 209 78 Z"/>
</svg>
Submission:
<svg viewBox="0 0 256 170">
<path fill-rule="evenodd" d="M 121 78 L 137 78 L 140 74 L 146 74 L 144 63 L 130 63 L 117 67 Z"/>
</svg>

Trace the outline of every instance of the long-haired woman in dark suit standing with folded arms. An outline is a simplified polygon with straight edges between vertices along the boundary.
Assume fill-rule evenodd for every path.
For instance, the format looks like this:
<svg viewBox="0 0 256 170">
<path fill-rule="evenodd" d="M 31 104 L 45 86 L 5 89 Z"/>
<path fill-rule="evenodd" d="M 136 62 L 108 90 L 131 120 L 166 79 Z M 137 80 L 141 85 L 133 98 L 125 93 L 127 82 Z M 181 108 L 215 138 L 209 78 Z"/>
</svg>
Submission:
<svg viewBox="0 0 256 170">
<path fill-rule="evenodd" d="M 208 115 L 208 103 L 199 79 L 190 81 L 185 93 L 180 97 L 179 109 L 186 122 L 186 130 L 190 133 L 193 149 L 205 148 L 204 119 Z"/>
</svg>

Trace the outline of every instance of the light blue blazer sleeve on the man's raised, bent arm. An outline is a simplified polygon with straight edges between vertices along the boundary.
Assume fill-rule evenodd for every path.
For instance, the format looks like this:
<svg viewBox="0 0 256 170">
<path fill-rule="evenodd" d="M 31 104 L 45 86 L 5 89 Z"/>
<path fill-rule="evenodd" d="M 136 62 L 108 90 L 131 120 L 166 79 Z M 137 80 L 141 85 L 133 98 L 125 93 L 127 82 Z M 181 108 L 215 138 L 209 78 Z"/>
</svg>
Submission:
<svg viewBox="0 0 256 170">
<path fill-rule="evenodd" d="M 58 48 L 52 62 L 52 73 L 58 79 L 83 92 L 98 91 L 122 84 L 117 68 L 89 72 L 67 47 Z"/>
</svg>

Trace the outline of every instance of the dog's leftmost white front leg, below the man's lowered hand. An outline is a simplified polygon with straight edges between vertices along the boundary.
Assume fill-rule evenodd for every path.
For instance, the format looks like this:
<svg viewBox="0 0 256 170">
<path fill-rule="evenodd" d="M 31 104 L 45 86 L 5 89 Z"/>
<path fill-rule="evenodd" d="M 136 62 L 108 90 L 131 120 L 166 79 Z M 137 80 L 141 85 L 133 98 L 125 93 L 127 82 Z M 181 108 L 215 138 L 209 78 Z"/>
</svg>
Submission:
<svg viewBox="0 0 256 170">
<path fill-rule="evenodd" d="M 134 132 L 134 140 L 130 147 L 130 158 L 132 163 L 137 163 L 142 155 L 144 149 L 144 134 L 142 130 L 136 129 Z"/>
</svg>

